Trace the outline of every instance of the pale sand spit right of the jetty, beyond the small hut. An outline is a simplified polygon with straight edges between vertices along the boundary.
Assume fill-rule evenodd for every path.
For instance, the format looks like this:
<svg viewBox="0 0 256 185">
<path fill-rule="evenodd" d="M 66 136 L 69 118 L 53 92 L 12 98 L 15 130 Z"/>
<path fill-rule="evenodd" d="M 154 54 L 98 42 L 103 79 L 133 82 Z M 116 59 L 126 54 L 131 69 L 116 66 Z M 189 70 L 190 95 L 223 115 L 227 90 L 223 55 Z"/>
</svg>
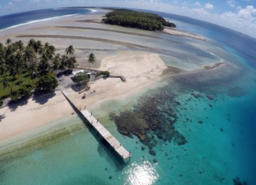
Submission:
<svg viewBox="0 0 256 185">
<path fill-rule="evenodd" d="M 111 74 L 122 75 L 126 78 L 123 83 L 119 78 L 100 79 L 91 83 L 91 91 L 87 98 L 82 99 L 83 94 L 72 90 L 74 98 L 87 109 L 93 109 L 101 102 L 112 99 L 124 99 L 147 89 L 152 84 L 161 80 L 161 75 L 168 68 L 158 54 L 150 54 L 142 51 L 119 51 L 119 54 L 106 57 L 100 65 L 100 70 L 107 70 Z M 83 108 L 83 107 L 81 107 Z"/>
</svg>

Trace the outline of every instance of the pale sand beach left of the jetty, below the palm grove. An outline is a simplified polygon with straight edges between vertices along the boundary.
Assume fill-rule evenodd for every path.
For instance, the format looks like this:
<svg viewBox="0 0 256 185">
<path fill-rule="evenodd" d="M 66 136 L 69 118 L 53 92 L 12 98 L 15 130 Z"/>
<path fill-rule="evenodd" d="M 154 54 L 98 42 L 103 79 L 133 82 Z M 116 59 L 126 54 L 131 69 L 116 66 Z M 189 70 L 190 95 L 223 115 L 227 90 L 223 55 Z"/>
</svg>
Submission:
<svg viewBox="0 0 256 185">
<path fill-rule="evenodd" d="M 51 129 L 56 126 L 54 120 L 68 117 L 73 112 L 60 91 L 56 91 L 55 96 L 43 105 L 29 98 L 26 105 L 18 105 L 15 110 L 2 108 L 0 115 L 5 115 L 5 118 L 0 122 L 0 146 Z"/>
</svg>

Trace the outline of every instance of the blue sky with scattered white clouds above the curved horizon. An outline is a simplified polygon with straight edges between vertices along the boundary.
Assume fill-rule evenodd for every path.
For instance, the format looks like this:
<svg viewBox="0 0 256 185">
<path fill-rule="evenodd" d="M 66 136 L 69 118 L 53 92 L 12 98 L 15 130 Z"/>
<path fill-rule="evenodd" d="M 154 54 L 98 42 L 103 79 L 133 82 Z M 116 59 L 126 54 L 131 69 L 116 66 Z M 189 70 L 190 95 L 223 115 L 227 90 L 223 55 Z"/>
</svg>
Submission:
<svg viewBox="0 0 256 185">
<path fill-rule="evenodd" d="M 174 13 L 256 38 L 256 0 L 1 0 L 0 16 L 67 6 L 111 6 Z"/>
</svg>

